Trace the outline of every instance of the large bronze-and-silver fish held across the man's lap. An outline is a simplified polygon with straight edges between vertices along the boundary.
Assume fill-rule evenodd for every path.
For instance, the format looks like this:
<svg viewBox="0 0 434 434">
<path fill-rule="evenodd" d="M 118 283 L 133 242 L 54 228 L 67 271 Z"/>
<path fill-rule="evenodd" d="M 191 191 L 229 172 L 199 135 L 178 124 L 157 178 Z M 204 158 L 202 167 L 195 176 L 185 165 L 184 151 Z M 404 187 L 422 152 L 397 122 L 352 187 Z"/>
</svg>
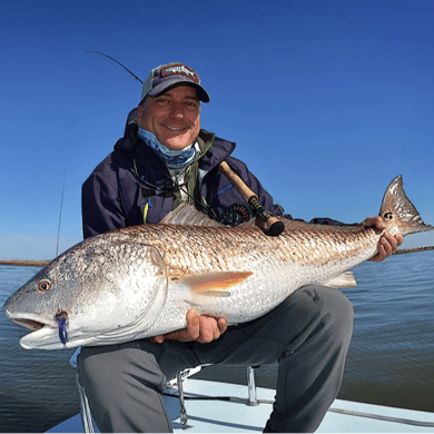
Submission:
<svg viewBox="0 0 434 434">
<path fill-rule="evenodd" d="M 405 236 L 434 229 L 402 185 L 398 176 L 384 195 L 379 216 L 386 230 Z M 221 227 L 184 205 L 158 225 L 111 230 L 71 247 L 3 309 L 33 331 L 21 338 L 23 348 L 156 336 L 185 327 L 191 306 L 238 324 L 266 314 L 303 286 L 354 285 L 339 276 L 375 256 L 383 234 L 363 225 L 282 221 L 283 234 L 270 237 L 251 221 Z"/>
</svg>

